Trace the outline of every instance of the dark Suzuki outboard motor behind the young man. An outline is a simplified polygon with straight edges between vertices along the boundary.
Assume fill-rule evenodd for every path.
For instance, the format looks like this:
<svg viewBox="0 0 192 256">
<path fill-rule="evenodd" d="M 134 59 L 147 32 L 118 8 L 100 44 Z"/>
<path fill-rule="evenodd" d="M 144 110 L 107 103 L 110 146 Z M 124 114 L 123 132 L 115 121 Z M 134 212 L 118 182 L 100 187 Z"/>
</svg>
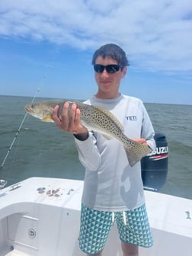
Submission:
<svg viewBox="0 0 192 256">
<path fill-rule="evenodd" d="M 141 160 L 142 182 L 145 190 L 158 191 L 168 174 L 168 142 L 164 133 L 154 136 L 156 149 Z"/>
</svg>

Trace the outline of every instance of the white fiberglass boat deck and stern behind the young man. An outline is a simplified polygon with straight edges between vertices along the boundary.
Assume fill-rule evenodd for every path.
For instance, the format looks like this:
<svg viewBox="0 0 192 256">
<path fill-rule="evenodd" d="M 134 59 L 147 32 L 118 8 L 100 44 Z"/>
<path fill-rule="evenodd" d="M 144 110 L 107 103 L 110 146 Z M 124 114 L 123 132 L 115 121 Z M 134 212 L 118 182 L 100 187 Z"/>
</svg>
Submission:
<svg viewBox="0 0 192 256">
<path fill-rule="evenodd" d="M 0 190 L 0 256 L 81 256 L 83 181 L 29 178 Z M 146 191 L 154 237 L 140 256 L 192 256 L 192 200 Z M 104 256 L 120 256 L 116 226 Z"/>
</svg>

